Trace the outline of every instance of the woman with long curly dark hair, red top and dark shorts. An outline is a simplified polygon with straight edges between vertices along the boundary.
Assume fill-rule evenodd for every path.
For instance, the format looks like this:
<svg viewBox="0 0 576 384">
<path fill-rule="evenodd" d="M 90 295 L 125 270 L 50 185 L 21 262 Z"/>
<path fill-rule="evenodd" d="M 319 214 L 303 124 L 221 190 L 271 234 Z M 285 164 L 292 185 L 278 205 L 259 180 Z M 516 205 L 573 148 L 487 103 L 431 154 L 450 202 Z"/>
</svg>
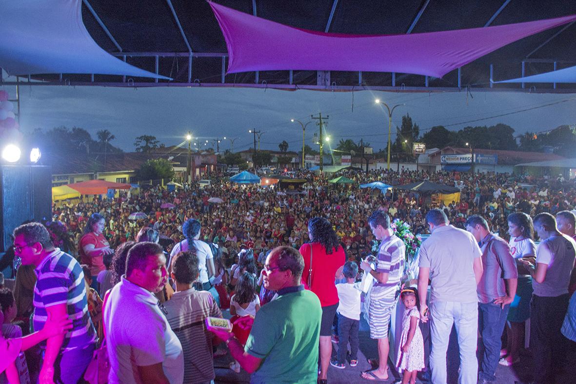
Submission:
<svg viewBox="0 0 576 384">
<path fill-rule="evenodd" d="M 316 293 L 322 306 L 320 324 L 320 376 L 327 380 L 328 366 L 332 355 L 332 323 L 338 308 L 338 291 L 335 278 L 342 273 L 346 254 L 332 224 L 324 217 L 314 217 L 308 222 L 310 243 L 302 244 L 300 253 L 304 257 L 302 281 L 310 291 Z M 312 265 L 310 265 L 312 262 Z"/>
</svg>

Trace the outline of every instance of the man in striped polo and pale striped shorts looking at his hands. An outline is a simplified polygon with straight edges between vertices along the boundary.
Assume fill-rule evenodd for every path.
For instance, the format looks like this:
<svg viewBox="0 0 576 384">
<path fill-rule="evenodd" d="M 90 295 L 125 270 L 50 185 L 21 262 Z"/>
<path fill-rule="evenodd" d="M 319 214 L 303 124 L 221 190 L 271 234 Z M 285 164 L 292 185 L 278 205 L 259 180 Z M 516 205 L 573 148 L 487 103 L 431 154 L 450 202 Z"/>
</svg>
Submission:
<svg viewBox="0 0 576 384">
<path fill-rule="evenodd" d="M 368 322 L 370 337 L 378 340 L 378 368 L 362 373 L 367 380 L 388 379 L 388 327 L 392 310 L 396 302 L 396 292 L 400 289 L 400 279 L 404 270 L 404 254 L 406 246 L 392 230 L 390 216 L 383 210 L 377 210 L 368 218 L 368 224 L 377 240 L 378 262 L 373 270 L 368 262 L 363 260 L 360 268 L 372 274 L 376 279 L 370 291 L 370 306 Z"/>
</svg>

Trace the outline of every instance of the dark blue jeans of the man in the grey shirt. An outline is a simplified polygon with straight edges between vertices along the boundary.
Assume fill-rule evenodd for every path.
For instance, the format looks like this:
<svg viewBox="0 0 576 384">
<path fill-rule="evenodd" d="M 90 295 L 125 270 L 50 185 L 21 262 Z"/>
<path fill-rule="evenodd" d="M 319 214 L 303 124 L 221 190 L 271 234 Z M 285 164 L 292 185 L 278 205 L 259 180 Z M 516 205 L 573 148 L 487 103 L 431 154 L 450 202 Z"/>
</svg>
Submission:
<svg viewBox="0 0 576 384">
<path fill-rule="evenodd" d="M 499 304 L 478 303 L 478 327 L 484 344 L 484 356 L 482 356 L 482 370 L 479 377 L 487 381 L 495 381 L 494 373 L 500 359 L 502 348 L 502 332 L 506 324 L 506 317 L 510 304 L 502 309 Z"/>
</svg>

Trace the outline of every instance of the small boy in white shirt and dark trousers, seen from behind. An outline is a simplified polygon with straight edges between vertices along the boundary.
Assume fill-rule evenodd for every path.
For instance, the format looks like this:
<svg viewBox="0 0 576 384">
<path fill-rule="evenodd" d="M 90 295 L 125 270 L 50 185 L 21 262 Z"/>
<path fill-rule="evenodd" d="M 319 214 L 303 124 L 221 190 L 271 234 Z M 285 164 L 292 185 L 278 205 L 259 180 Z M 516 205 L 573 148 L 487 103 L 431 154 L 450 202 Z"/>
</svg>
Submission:
<svg viewBox="0 0 576 384">
<path fill-rule="evenodd" d="M 337 359 L 330 360 L 330 365 L 344 369 L 346 366 L 347 345 L 350 342 L 350 366 L 358 365 L 358 329 L 360 327 L 360 287 L 356 283 L 358 264 L 348 261 L 342 270 L 346 283 L 336 284 L 340 303 L 336 313 L 338 314 L 338 344 Z"/>
</svg>

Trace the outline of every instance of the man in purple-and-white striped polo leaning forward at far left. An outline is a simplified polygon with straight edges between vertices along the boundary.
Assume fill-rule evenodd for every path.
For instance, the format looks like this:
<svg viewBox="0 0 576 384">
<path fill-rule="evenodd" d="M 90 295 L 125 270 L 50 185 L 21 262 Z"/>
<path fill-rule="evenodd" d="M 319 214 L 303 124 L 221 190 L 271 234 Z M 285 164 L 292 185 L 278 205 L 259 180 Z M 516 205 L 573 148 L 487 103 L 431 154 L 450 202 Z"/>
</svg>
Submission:
<svg viewBox="0 0 576 384">
<path fill-rule="evenodd" d="M 48 317 L 69 317 L 73 328 L 48 338 L 40 369 L 41 383 L 77 383 L 96 347 L 96 332 L 88 313 L 84 272 L 69 254 L 54 248 L 44 225 L 29 223 L 14 229 L 14 251 L 23 265 L 34 265 L 34 329 Z"/>
</svg>

